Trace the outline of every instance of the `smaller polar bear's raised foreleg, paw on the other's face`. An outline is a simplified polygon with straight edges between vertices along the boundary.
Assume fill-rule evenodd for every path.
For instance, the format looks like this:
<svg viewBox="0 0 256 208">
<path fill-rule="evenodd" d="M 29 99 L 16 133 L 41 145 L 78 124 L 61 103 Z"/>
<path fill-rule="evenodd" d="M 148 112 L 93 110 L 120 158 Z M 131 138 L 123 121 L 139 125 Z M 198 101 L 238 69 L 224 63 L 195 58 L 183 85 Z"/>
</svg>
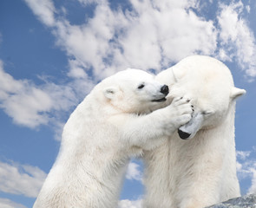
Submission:
<svg viewBox="0 0 256 208">
<path fill-rule="evenodd" d="M 152 149 L 191 120 L 193 107 L 187 98 L 175 98 L 171 105 L 142 116 L 131 116 L 122 129 L 122 140 L 131 146 Z"/>
</svg>

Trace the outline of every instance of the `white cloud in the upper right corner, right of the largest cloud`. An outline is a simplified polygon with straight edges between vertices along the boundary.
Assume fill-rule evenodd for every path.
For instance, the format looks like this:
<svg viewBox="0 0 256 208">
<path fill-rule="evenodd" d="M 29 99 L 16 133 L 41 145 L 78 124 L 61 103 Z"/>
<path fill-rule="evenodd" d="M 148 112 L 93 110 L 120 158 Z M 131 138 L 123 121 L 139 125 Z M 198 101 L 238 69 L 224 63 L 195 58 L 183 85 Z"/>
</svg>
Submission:
<svg viewBox="0 0 256 208">
<path fill-rule="evenodd" d="M 231 59 L 236 60 L 248 77 L 256 76 L 256 44 L 253 31 L 242 17 L 244 4 L 220 3 L 220 46 Z M 220 58 L 223 58 L 220 54 Z"/>
</svg>

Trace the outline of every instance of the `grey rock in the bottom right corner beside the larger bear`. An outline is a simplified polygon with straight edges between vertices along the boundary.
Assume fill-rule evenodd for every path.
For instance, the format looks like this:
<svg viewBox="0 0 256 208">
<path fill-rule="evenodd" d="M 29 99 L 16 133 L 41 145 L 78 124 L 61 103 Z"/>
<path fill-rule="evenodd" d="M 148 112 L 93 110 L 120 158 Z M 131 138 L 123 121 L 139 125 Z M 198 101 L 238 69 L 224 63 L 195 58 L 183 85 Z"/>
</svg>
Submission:
<svg viewBox="0 0 256 208">
<path fill-rule="evenodd" d="M 246 195 L 240 198 L 232 198 L 226 202 L 217 205 L 208 206 L 207 208 L 256 208 L 256 195 Z"/>
</svg>

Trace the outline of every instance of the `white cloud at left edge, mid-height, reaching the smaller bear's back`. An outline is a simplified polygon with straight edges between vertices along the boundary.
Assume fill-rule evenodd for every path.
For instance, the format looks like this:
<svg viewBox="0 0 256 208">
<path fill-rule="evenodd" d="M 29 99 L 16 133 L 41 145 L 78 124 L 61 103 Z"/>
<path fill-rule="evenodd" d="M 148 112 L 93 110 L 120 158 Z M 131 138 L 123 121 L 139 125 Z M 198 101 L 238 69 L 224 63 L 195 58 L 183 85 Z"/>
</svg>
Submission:
<svg viewBox="0 0 256 208">
<path fill-rule="evenodd" d="M 77 105 L 93 86 L 85 75 L 61 85 L 41 79 L 44 84 L 40 86 L 16 80 L 3 70 L 0 61 L 0 107 L 16 124 L 34 128 L 50 123 L 58 127 L 62 115 Z"/>
</svg>

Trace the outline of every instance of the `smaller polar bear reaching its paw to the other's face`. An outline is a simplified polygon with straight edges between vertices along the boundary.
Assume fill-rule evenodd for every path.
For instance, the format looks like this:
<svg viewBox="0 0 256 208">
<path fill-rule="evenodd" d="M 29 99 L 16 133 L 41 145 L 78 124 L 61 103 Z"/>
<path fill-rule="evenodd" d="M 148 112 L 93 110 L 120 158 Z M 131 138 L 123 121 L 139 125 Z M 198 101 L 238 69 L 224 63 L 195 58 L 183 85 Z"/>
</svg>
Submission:
<svg viewBox="0 0 256 208">
<path fill-rule="evenodd" d="M 167 94 L 166 85 L 137 69 L 97 84 L 70 115 L 34 208 L 116 207 L 129 158 L 191 119 L 191 104 L 181 98 L 148 114 Z"/>
</svg>

